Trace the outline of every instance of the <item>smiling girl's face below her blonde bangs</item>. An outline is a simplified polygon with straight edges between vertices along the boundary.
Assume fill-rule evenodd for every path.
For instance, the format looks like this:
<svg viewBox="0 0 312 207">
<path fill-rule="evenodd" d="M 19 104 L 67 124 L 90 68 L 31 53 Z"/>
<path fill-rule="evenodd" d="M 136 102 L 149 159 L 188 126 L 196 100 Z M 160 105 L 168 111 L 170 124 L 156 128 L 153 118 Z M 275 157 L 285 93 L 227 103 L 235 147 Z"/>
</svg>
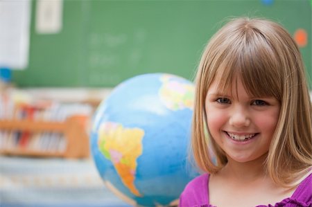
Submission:
<svg viewBox="0 0 312 207">
<path fill-rule="evenodd" d="M 209 132 L 228 159 L 254 161 L 268 152 L 279 118 L 279 101 L 250 97 L 240 78 L 237 84 L 232 82 L 232 91 L 220 93 L 216 80 L 205 102 Z"/>
</svg>

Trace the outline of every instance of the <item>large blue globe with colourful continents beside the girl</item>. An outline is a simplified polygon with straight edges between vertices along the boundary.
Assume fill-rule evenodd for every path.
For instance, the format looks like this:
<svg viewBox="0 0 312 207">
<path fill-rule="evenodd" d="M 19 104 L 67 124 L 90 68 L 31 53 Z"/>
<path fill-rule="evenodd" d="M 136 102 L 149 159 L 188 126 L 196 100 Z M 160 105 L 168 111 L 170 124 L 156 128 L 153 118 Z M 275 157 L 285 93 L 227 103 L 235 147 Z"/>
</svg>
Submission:
<svg viewBox="0 0 312 207">
<path fill-rule="evenodd" d="M 187 159 L 193 83 L 138 75 L 119 84 L 94 116 L 91 150 L 107 188 L 132 206 L 171 206 L 195 177 Z"/>
</svg>

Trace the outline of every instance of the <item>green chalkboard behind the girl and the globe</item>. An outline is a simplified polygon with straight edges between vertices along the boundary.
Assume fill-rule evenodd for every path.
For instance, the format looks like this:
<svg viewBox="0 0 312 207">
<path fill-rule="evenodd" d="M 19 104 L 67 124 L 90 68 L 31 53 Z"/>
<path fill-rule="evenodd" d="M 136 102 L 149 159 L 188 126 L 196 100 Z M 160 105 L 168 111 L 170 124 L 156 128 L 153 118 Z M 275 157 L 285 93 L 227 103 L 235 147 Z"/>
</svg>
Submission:
<svg viewBox="0 0 312 207">
<path fill-rule="evenodd" d="M 28 68 L 14 71 L 19 87 L 114 87 L 141 73 L 192 79 L 207 40 L 227 17 L 266 17 L 291 34 L 311 80 L 311 1 L 63 1 L 62 30 L 43 35 L 31 20 Z"/>
</svg>

